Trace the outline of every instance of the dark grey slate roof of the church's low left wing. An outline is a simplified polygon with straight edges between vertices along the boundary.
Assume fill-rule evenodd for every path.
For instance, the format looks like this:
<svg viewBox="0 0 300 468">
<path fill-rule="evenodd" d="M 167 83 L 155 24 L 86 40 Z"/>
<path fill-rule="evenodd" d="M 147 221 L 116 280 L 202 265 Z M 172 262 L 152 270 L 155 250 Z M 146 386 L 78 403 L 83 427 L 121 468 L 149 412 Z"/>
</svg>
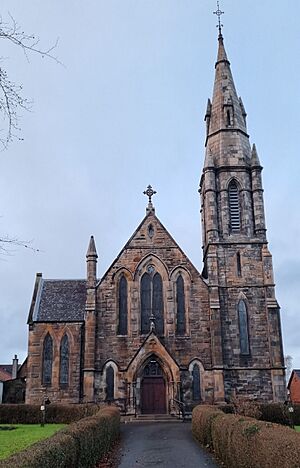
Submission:
<svg viewBox="0 0 300 468">
<path fill-rule="evenodd" d="M 85 301 L 85 280 L 41 279 L 32 319 L 34 322 L 83 321 Z"/>
</svg>

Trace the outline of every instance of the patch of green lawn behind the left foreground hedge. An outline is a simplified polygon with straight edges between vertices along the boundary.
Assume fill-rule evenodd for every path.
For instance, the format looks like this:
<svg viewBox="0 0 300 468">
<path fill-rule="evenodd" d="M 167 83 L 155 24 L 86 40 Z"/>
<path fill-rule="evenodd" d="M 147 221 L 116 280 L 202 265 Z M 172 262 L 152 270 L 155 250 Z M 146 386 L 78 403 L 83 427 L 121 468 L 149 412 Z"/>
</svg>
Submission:
<svg viewBox="0 0 300 468">
<path fill-rule="evenodd" d="M 12 453 L 20 452 L 29 445 L 42 439 L 47 439 L 65 424 L 0 424 L 1 427 L 13 426 L 14 430 L 0 430 L 0 460 Z"/>
</svg>

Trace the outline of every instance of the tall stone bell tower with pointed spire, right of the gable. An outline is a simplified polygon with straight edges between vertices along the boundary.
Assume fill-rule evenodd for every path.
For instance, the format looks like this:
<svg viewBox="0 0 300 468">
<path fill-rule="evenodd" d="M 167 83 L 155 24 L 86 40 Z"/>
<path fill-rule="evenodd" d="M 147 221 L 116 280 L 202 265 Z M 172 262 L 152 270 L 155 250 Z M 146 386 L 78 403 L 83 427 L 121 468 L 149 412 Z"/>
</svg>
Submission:
<svg viewBox="0 0 300 468">
<path fill-rule="evenodd" d="M 223 371 L 225 399 L 251 394 L 285 399 L 280 308 L 266 239 L 261 172 L 250 146 L 219 16 L 218 55 L 205 122 L 200 181 L 203 277 L 210 291 L 213 368 Z"/>
</svg>

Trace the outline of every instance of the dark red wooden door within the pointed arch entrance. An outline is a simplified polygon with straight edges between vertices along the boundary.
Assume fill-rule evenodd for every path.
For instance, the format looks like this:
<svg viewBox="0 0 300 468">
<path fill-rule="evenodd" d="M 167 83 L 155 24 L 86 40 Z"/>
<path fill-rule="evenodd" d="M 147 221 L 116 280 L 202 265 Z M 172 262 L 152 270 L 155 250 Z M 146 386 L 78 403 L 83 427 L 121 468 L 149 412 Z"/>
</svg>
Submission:
<svg viewBox="0 0 300 468">
<path fill-rule="evenodd" d="M 142 414 L 165 414 L 166 381 L 163 370 L 152 356 L 144 367 L 141 381 Z"/>
</svg>

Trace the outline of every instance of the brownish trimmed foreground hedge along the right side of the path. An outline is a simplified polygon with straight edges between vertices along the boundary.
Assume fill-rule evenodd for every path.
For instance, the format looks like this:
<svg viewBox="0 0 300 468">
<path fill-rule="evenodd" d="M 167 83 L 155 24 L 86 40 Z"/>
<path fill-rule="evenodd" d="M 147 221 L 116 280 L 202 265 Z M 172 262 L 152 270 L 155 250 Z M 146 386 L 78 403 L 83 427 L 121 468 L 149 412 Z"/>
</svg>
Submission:
<svg viewBox="0 0 300 468">
<path fill-rule="evenodd" d="M 199 429 L 201 424 L 204 427 Z M 227 467 L 300 466 L 300 434 L 288 427 L 198 406 L 193 411 L 192 430 Z"/>
</svg>

